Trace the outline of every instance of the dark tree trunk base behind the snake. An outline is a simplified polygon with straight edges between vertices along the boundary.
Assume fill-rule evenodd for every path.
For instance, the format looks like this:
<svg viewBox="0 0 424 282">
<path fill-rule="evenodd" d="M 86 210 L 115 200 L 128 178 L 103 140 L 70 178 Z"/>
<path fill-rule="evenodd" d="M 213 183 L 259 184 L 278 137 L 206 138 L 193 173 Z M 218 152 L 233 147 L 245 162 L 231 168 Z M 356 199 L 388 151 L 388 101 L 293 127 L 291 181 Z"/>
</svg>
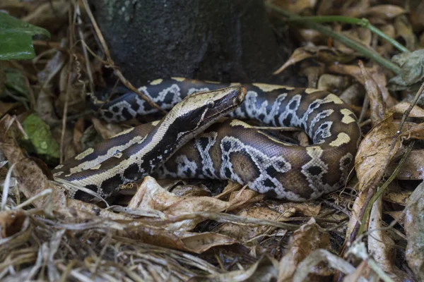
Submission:
<svg viewBox="0 0 424 282">
<path fill-rule="evenodd" d="M 262 0 L 92 0 L 114 62 L 133 85 L 183 76 L 284 82 L 287 59 Z"/>
</svg>

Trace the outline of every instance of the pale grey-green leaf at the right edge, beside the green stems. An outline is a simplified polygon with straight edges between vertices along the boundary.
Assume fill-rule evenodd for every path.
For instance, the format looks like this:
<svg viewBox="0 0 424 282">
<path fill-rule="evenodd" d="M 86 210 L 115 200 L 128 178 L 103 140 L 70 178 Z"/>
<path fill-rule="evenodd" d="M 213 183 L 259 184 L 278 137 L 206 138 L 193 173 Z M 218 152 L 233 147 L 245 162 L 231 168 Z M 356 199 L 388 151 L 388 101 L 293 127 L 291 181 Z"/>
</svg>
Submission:
<svg viewBox="0 0 424 282">
<path fill-rule="evenodd" d="M 391 61 L 401 67 L 401 73 L 389 80 L 389 84 L 396 85 L 395 88 L 405 89 L 424 78 L 424 49 L 401 53 L 393 56 Z"/>
</svg>

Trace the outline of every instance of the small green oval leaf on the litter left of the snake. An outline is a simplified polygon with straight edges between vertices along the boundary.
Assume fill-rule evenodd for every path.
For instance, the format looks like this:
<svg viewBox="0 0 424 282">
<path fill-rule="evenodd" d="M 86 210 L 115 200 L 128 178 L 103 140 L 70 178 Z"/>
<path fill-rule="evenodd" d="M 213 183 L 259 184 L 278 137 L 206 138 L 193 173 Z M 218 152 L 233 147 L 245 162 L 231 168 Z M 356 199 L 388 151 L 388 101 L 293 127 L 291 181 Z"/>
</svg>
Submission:
<svg viewBox="0 0 424 282">
<path fill-rule="evenodd" d="M 30 114 L 22 123 L 28 139 L 21 140 L 22 146 L 30 153 L 37 154 L 47 164 L 57 163 L 60 157 L 59 144 L 52 137 L 49 125 L 40 116 Z"/>
</svg>

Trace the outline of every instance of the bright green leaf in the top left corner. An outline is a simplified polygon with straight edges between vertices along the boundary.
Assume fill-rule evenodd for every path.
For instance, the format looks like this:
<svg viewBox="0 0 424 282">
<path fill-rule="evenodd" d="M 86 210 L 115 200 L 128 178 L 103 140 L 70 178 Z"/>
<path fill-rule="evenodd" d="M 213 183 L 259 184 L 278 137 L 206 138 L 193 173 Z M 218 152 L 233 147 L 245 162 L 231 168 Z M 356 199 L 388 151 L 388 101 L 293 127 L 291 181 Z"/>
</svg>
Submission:
<svg viewBox="0 0 424 282">
<path fill-rule="evenodd" d="M 0 60 L 32 59 L 35 56 L 33 35 L 50 37 L 42 27 L 0 12 Z"/>
</svg>

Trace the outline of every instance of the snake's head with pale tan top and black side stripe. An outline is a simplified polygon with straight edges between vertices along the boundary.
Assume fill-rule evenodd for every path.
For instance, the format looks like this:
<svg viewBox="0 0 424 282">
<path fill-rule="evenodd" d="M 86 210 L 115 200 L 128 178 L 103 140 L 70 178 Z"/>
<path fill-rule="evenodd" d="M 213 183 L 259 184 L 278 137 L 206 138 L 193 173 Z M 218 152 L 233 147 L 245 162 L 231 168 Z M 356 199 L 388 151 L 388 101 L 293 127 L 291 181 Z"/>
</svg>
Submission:
<svg viewBox="0 0 424 282">
<path fill-rule="evenodd" d="M 246 96 L 240 85 L 208 92 L 196 92 L 184 98 L 165 116 L 163 122 L 174 124 L 179 139 L 194 137 L 218 118 L 230 114 Z"/>
</svg>

